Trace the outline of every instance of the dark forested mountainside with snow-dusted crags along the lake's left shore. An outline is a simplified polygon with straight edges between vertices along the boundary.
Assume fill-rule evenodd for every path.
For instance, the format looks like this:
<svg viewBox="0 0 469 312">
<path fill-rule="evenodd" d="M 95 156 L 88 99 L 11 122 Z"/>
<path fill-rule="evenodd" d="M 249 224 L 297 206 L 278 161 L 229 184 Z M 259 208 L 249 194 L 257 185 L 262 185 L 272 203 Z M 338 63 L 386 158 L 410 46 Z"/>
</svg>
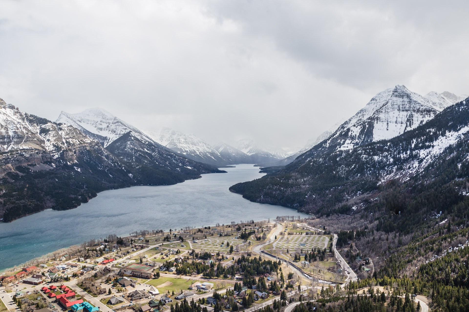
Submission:
<svg viewBox="0 0 469 312">
<path fill-rule="evenodd" d="M 138 141 L 122 137 L 119 142 Z M 143 139 L 138 142 L 126 146 L 144 145 Z M 222 172 L 166 150 L 149 150 L 141 157 L 147 162 L 136 163 L 124 149 L 114 155 L 71 125 L 24 113 L 1 99 L 0 145 L 0 218 L 5 222 L 46 208 L 75 208 L 106 189 L 175 184 Z"/>
</svg>

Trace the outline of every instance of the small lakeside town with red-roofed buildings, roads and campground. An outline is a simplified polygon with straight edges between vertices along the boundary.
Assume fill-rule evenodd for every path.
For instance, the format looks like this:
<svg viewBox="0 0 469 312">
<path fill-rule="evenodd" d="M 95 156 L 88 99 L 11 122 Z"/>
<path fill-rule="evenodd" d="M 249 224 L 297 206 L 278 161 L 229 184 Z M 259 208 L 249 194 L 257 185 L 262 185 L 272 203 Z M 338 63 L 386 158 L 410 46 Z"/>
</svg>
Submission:
<svg viewBox="0 0 469 312">
<path fill-rule="evenodd" d="M 0 312 L 280 311 L 356 293 L 358 277 L 337 251 L 337 235 L 310 221 L 288 216 L 91 239 L 4 272 Z M 366 259 L 354 261 L 365 276 Z"/>
</svg>

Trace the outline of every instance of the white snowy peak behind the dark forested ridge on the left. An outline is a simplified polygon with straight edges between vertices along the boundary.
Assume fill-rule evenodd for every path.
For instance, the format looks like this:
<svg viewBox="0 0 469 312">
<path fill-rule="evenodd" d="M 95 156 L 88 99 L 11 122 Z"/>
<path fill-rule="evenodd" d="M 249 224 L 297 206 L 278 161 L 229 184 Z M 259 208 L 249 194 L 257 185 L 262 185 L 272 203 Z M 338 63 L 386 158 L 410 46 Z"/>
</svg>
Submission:
<svg viewBox="0 0 469 312">
<path fill-rule="evenodd" d="M 77 114 L 61 111 L 55 122 L 74 126 L 90 138 L 98 140 L 104 147 L 129 131 L 133 131 L 139 138 L 152 141 L 136 127 L 100 108 L 85 109 Z"/>
</svg>

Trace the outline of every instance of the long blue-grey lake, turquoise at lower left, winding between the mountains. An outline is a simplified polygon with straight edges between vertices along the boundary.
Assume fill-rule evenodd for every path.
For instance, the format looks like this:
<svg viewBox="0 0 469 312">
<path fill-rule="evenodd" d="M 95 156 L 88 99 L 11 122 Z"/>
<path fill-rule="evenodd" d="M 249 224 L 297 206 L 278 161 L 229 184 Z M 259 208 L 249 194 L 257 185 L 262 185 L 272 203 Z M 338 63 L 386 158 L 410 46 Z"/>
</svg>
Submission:
<svg viewBox="0 0 469 312">
<path fill-rule="evenodd" d="M 0 270 L 109 234 L 307 216 L 282 206 L 252 203 L 228 190 L 235 183 L 263 176 L 258 167 L 223 169 L 228 173 L 203 174 L 201 179 L 175 185 L 107 190 L 75 209 L 47 209 L 0 223 Z"/>
</svg>

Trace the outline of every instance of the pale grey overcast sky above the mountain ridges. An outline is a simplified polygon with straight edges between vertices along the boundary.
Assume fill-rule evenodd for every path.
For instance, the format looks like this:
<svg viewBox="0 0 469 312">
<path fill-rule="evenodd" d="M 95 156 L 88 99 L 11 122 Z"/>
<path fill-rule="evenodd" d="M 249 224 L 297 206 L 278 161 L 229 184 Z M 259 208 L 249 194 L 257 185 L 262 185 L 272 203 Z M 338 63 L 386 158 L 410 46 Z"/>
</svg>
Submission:
<svg viewBox="0 0 469 312">
<path fill-rule="evenodd" d="M 0 98 L 303 147 L 388 87 L 468 94 L 468 1 L 0 0 Z"/>
</svg>

